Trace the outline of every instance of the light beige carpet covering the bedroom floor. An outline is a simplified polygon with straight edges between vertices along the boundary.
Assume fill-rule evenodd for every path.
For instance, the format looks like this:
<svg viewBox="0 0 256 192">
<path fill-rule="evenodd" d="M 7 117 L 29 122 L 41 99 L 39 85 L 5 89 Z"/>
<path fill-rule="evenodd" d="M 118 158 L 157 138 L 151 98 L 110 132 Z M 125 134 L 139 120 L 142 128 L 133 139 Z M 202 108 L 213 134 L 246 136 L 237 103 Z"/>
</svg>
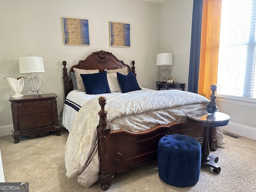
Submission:
<svg viewBox="0 0 256 192">
<path fill-rule="evenodd" d="M 98 192 L 100 182 L 90 188 L 76 178 L 68 179 L 64 164 L 67 131 L 61 136 L 26 138 L 18 144 L 12 136 L 0 137 L 5 182 L 29 182 L 30 192 Z M 256 140 L 224 135 L 226 148 L 217 148 L 221 172 L 201 168 L 195 186 L 178 188 L 159 178 L 157 163 L 148 162 L 128 172 L 116 174 L 108 192 L 256 192 Z"/>
</svg>

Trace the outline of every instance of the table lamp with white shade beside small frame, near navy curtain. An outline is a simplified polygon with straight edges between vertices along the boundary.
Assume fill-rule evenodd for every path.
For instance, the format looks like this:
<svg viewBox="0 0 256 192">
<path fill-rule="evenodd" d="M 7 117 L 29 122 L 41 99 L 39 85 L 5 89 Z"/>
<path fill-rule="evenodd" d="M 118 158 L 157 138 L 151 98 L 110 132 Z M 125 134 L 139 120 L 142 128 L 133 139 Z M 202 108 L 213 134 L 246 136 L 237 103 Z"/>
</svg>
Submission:
<svg viewBox="0 0 256 192">
<path fill-rule="evenodd" d="M 166 82 L 168 77 L 171 77 L 170 70 L 166 69 L 166 66 L 173 65 L 172 53 L 158 53 L 156 55 L 156 65 L 164 66 L 164 69 L 160 71 L 159 78 L 161 82 Z"/>
</svg>

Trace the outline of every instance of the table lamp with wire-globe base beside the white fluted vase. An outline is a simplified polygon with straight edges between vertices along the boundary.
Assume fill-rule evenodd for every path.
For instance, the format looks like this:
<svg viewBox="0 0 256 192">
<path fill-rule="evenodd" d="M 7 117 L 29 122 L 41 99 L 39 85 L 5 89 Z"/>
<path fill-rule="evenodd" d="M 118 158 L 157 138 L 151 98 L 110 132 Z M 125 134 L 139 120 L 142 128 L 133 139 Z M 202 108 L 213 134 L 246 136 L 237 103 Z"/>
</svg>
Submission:
<svg viewBox="0 0 256 192">
<path fill-rule="evenodd" d="M 32 77 L 26 80 L 26 88 L 32 92 L 30 96 L 42 96 L 39 91 L 44 87 L 44 83 L 35 73 L 44 73 L 44 62 L 42 57 L 20 57 L 20 73 L 32 73 Z"/>
</svg>

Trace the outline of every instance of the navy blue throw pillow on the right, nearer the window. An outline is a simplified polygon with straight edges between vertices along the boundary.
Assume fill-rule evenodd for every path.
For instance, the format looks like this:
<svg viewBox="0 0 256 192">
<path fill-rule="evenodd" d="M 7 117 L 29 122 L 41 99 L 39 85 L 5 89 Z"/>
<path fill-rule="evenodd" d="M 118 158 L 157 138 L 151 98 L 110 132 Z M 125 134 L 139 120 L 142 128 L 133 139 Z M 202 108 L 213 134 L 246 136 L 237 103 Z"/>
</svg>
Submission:
<svg viewBox="0 0 256 192">
<path fill-rule="evenodd" d="M 136 80 L 136 77 L 132 71 L 130 73 L 128 73 L 128 75 L 123 75 L 118 72 L 116 72 L 116 74 L 117 74 L 117 79 L 118 79 L 119 85 L 122 89 L 122 93 L 141 90 L 141 88 L 139 87 L 138 82 Z"/>
</svg>

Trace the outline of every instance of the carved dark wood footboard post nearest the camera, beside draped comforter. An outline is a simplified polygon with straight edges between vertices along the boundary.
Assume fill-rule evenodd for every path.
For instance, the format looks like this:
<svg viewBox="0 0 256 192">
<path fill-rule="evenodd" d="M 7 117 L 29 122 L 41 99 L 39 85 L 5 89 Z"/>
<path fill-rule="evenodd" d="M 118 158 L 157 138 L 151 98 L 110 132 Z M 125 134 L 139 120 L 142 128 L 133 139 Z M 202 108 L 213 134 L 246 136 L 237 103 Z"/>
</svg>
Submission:
<svg viewBox="0 0 256 192">
<path fill-rule="evenodd" d="M 100 173 L 99 178 L 101 180 L 100 188 L 102 190 L 108 190 L 110 186 L 110 180 L 112 178 L 111 174 L 111 164 L 110 164 L 110 128 L 108 127 L 108 112 L 105 111 L 104 107 L 106 105 L 106 97 L 100 96 L 98 98 L 100 104 L 100 115 L 98 131 L 98 145 L 99 145 L 99 157 L 100 157 Z"/>
</svg>

